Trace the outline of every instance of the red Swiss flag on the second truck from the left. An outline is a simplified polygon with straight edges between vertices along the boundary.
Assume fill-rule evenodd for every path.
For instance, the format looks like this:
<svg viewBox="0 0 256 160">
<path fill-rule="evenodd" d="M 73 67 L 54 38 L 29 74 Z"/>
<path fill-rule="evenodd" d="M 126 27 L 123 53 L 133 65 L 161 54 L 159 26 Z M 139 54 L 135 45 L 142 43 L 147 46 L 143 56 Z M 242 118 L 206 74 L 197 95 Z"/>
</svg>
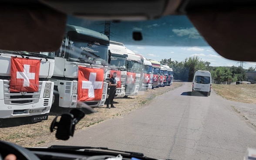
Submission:
<svg viewBox="0 0 256 160">
<path fill-rule="evenodd" d="M 78 101 L 101 100 L 104 70 L 78 66 Z"/>
</svg>

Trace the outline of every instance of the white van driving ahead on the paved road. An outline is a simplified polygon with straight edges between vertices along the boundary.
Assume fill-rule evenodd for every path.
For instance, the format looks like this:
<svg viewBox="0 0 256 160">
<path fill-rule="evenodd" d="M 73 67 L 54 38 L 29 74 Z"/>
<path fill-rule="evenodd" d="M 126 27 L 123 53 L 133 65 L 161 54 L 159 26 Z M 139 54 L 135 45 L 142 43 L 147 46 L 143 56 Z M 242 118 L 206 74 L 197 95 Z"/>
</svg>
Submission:
<svg viewBox="0 0 256 160">
<path fill-rule="evenodd" d="M 205 93 L 206 96 L 211 94 L 212 90 L 212 76 L 207 70 L 198 70 L 195 72 L 193 84 L 192 84 L 192 94 L 197 92 Z"/>
</svg>

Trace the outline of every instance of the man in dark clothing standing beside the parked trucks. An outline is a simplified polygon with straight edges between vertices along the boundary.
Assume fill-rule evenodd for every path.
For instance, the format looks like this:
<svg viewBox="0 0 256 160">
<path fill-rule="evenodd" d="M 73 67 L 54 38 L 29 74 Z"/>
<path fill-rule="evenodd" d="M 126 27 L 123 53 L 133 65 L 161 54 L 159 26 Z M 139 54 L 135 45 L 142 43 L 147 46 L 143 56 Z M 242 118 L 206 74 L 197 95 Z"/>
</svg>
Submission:
<svg viewBox="0 0 256 160">
<path fill-rule="evenodd" d="M 115 80 L 116 76 L 117 76 L 117 73 L 114 72 L 113 76 L 110 78 L 108 82 L 108 86 L 110 87 L 110 90 L 109 90 L 108 99 L 106 100 L 107 108 L 109 108 L 109 103 L 111 105 L 111 108 L 115 108 L 115 106 L 113 105 L 113 100 L 115 98 L 115 88 L 117 86 L 117 83 Z"/>
</svg>

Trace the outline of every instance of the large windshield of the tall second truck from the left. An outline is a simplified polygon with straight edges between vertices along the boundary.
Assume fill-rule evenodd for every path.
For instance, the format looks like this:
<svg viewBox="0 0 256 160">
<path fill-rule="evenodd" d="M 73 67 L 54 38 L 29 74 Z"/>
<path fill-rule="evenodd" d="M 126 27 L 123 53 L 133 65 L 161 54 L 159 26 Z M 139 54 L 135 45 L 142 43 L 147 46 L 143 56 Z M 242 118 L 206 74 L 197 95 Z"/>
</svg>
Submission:
<svg viewBox="0 0 256 160">
<path fill-rule="evenodd" d="M 69 49 L 68 58 L 70 60 L 107 64 L 108 46 L 106 45 L 91 41 L 70 40 Z"/>
</svg>

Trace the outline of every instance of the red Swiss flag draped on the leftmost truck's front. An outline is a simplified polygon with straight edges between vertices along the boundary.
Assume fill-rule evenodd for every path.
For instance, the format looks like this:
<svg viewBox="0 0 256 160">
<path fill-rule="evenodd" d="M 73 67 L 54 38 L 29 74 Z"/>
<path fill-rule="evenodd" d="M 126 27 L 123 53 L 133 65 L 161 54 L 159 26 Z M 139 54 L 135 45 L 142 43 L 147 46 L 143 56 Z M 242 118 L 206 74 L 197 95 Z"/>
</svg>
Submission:
<svg viewBox="0 0 256 160">
<path fill-rule="evenodd" d="M 37 92 L 40 60 L 11 57 L 10 92 Z"/>
</svg>

